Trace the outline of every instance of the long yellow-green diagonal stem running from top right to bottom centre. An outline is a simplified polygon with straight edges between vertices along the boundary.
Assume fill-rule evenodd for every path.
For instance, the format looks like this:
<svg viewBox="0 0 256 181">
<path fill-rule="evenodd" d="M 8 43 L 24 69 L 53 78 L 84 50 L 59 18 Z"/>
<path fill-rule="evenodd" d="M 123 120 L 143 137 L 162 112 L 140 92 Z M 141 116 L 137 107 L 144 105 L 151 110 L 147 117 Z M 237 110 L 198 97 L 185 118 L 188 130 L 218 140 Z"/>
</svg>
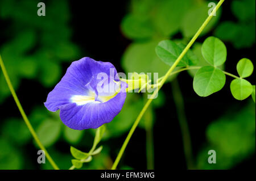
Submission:
<svg viewBox="0 0 256 181">
<path fill-rule="evenodd" d="M 202 24 L 202 26 L 199 28 L 199 30 L 196 32 L 196 34 L 192 37 L 191 41 L 189 41 L 188 45 L 184 48 L 184 50 L 181 52 L 181 54 L 179 55 L 179 57 L 177 57 L 177 60 L 174 62 L 174 64 L 171 66 L 171 68 L 167 71 L 166 75 L 164 75 L 162 81 L 160 82 L 160 86 L 159 89 L 156 89 L 156 91 L 152 94 L 151 98 L 155 98 L 155 96 L 157 95 L 158 91 L 161 89 L 161 87 L 163 86 L 164 82 L 166 82 L 166 79 L 169 77 L 169 75 L 172 73 L 172 71 L 176 68 L 177 64 L 179 64 L 180 60 L 184 57 L 185 53 L 187 53 L 188 49 L 192 46 L 192 44 L 196 41 L 197 37 L 199 37 L 200 33 L 204 30 L 204 28 L 207 26 L 207 24 L 209 23 L 210 19 L 212 19 L 213 14 L 215 12 L 217 12 L 217 10 L 220 8 L 220 6 L 222 5 L 222 3 L 225 0 L 220 0 L 218 2 L 218 4 L 216 5 L 216 7 L 214 8 L 214 10 L 211 12 L 211 14 L 208 16 L 208 18 L 205 20 L 205 22 Z M 131 136 L 133 135 L 133 132 L 135 131 L 135 129 L 137 128 L 139 121 L 141 120 L 144 112 L 147 110 L 148 106 L 150 105 L 150 103 L 152 102 L 153 99 L 148 99 L 146 104 L 144 105 L 144 107 L 142 108 L 142 111 L 139 113 L 137 119 L 135 120 L 133 126 L 130 129 L 130 132 L 128 133 L 125 141 L 123 142 L 123 145 L 117 155 L 117 158 L 115 159 L 115 162 L 113 163 L 112 166 L 112 170 L 117 168 L 117 165 L 123 155 L 123 152 L 126 149 L 126 146 L 128 144 L 128 142 L 130 141 Z"/>
</svg>

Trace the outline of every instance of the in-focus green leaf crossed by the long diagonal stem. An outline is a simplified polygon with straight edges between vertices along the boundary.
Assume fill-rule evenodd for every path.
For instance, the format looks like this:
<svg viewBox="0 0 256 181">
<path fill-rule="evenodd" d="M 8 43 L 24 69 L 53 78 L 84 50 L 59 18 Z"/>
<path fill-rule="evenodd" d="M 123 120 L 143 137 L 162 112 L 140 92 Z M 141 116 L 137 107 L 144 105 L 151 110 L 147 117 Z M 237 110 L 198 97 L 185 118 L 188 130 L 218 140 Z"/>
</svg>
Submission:
<svg viewBox="0 0 256 181">
<path fill-rule="evenodd" d="M 182 49 L 174 41 L 163 40 L 156 46 L 155 52 L 164 63 L 172 66 L 182 52 Z M 187 56 L 184 56 L 177 66 L 187 65 L 189 65 L 189 60 Z"/>
</svg>

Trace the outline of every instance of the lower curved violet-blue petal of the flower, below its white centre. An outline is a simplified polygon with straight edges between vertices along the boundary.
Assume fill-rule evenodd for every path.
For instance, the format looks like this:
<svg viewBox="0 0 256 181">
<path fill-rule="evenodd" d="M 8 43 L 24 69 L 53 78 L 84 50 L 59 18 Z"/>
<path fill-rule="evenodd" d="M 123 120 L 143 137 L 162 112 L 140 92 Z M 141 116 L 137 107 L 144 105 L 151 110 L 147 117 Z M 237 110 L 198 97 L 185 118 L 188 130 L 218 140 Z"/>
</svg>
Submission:
<svg viewBox="0 0 256 181">
<path fill-rule="evenodd" d="M 126 98 L 127 84 L 121 82 L 121 91 L 114 98 L 104 103 L 87 103 L 78 106 L 76 103 L 60 107 L 60 119 L 72 129 L 98 128 L 109 123 L 122 110 Z"/>
</svg>

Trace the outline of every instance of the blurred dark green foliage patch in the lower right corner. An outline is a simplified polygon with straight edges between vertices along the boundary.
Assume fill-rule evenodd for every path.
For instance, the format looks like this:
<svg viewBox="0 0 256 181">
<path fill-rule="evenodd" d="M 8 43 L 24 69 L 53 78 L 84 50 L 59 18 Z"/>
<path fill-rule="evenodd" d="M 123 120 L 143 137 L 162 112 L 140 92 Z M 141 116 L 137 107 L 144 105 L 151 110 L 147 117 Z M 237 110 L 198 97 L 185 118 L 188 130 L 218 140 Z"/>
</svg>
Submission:
<svg viewBox="0 0 256 181">
<path fill-rule="evenodd" d="M 208 142 L 197 157 L 198 169 L 232 169 L 255 153 L 255 104 L 229 110 L 206 131 Z M 208 150 L 216 151 L 216 164 L 209 164 Z"/>
</svg>

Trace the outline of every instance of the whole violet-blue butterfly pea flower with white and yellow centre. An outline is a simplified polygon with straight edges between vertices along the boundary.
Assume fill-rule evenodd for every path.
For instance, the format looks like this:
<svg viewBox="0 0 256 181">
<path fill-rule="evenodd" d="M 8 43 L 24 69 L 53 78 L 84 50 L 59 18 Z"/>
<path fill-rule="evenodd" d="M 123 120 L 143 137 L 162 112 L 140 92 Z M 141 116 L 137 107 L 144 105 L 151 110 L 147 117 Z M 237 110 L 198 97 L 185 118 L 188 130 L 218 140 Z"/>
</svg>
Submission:
<svg viewBox="0 0 256 181">
<path fill-rule="evenodd" d="M 121 111 L 126 88 L 110 62 L 84 57 L 72 62 L 44 105 L 52 112 L 60 110 L 60 119 L 69 128 L 98 128 Z"/>
</svg>

